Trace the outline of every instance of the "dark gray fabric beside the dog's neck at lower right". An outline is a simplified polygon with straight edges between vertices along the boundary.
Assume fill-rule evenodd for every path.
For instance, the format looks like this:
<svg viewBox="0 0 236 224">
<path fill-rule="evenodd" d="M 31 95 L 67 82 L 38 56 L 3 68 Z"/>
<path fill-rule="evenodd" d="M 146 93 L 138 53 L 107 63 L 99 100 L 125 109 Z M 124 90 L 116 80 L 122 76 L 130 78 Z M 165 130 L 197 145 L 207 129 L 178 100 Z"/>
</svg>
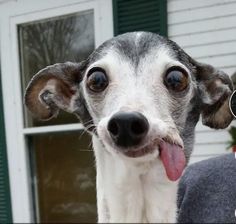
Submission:
<svg viewBox="0 0 236 224">
<path fill-rule="evenodd" d="M 178 223 L 236 223 L 235 209 L 234 153 L 186 169 L 179 183 Z"/>
</svg>

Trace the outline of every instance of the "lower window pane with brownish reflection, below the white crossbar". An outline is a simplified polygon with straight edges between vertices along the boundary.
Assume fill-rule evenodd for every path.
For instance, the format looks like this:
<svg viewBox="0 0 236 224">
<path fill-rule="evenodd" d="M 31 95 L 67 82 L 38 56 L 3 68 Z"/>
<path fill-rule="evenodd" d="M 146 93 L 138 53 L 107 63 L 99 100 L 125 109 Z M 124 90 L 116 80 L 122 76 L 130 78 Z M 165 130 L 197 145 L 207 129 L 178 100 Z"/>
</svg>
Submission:
<svg viewBox="0 0 236 224">
<path fill-rule="evenodd" d="M 28 139 L 38 220 L 96 222 L 95 161 L 91 138 L 81 132 Z"/>
</svg>

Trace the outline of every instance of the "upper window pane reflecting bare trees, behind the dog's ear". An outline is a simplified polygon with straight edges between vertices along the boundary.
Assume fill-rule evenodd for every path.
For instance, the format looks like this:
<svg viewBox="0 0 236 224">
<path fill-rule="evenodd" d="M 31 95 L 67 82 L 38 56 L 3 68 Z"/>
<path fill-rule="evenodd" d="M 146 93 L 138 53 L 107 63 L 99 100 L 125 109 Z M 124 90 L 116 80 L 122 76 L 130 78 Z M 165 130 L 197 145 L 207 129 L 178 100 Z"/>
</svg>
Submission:
<svg viewBox="0 0 236 224">
<path fill-rule="evenodd" d="M 18 27 L 22 92 L 32 76 L 54 63 L 82 61 L 94 49 L 93 10 L 21 24 Z M 77 122 L 60 112 L 56 119 L 40 122 L 24 108 L 25 126 L 44 126 Z"/>
</svg>

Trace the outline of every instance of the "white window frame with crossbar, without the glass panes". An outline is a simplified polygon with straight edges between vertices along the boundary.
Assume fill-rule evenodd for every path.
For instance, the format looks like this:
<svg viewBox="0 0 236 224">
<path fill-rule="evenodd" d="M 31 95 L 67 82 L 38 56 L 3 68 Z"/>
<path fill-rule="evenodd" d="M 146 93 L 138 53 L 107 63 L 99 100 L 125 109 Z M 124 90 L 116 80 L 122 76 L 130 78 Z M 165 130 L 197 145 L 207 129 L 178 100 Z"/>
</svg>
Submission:
<svg viewBox="0 0 236 224">
<path fill-rule="evenodd" d="M 112 0 L 21 0 L 0 9 L 2 89 L 13 222 L 34 220 L 25 138 L 39 133 L 81 130 L 81 124 L 24 127 L 17 26 L 35 20 L 94 10 L 95 47 L 113 36 Z"/>
</svg>

